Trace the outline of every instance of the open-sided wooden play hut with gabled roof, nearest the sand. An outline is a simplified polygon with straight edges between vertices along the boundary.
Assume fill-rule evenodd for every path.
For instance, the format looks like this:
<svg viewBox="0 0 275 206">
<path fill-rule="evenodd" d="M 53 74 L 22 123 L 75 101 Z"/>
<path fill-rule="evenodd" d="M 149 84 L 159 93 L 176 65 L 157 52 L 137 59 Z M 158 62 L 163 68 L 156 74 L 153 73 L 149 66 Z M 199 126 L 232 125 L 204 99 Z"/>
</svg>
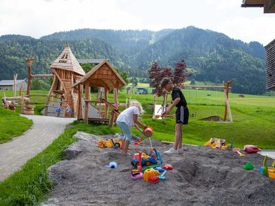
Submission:
<svg viewBox="0 0 275 206">
<path fill-rule="evenodd" d="M 126 82 L 120 74 L 113 69 L 108 60 L 104 59 L 73 86 L 73 88 L 78 91 L 78 102 L 80 103 L 77 108 L 77 118 L 84 119 L 86 123 L 89 121 L 109 122 L 109 126 L 113 126 L 113 122 L 115 122 L 116 117 L 120 113 L 118 108 L 120 106 L 123 108 L 128 106 L 127 103 L 120 104 L 118 102 L 118 89 L 124 86 L 126 86 Z M 83 87 L 85 87 L 85 100 L 81 101 L 83 98 Z M 97 100 L 91 100 L 91 87 L 98 88 Z M 108 100 L 109 91 L 111 90 L 113 90 L 113 102 L 109 102 Z M 96 103 L 98 106 L 92 106 L 90 103 Z M 111 108 L 110 117 L 109 108 Z M 89 111 L 91 110 L 96 110 L 98 115 L 96 117 L 89 117 Z"/>
</svg>

